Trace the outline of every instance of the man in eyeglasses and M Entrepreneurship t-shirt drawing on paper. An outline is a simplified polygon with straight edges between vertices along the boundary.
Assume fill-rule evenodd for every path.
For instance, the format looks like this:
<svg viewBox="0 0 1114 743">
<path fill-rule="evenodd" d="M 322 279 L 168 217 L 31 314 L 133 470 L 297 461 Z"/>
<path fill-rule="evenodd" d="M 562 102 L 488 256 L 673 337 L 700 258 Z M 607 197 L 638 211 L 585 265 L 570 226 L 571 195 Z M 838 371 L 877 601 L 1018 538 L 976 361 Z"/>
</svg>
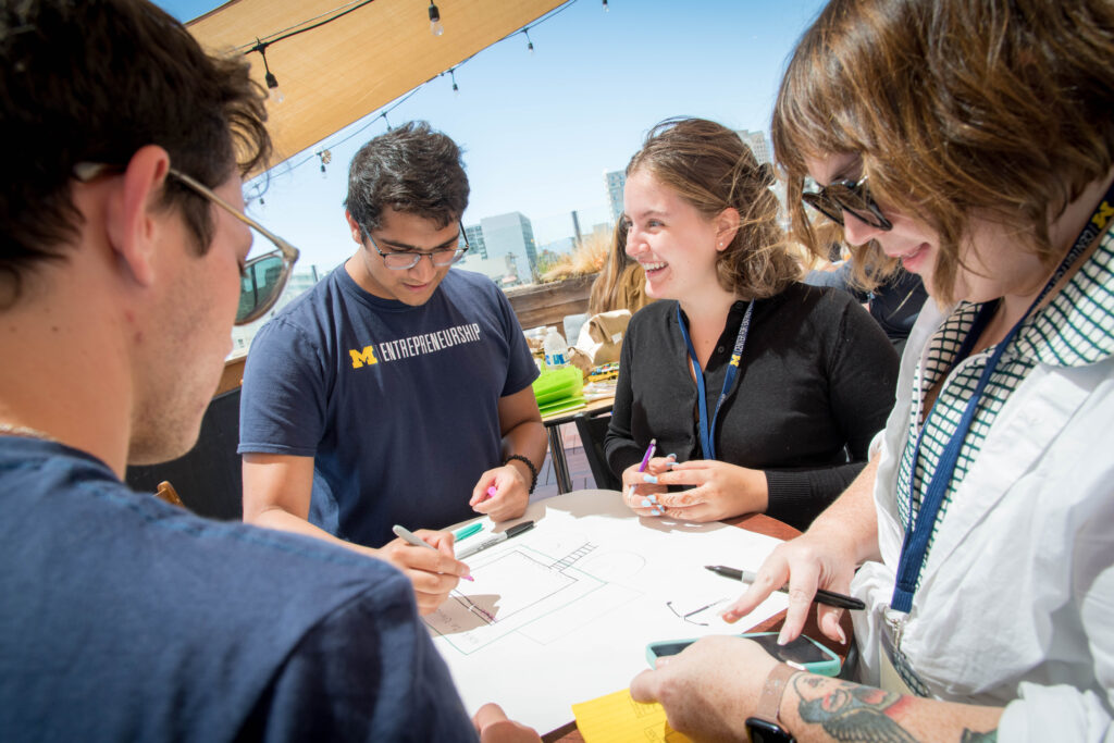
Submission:
<svg viewBox="0 0 1114 743">
<path fill-rule="evenodd" d="M 387 559 L 427 614 L 468 568 L 447 532 L 420 532 L 431 550 L 392 527 L 519 517 L 546 451 L 510 303 L 450 271 L 468 190 L 428 124 L 364 145 L 345 202 L 359 247 L 256 335 L 241 403 L 244 519 Z"/>
</svg>

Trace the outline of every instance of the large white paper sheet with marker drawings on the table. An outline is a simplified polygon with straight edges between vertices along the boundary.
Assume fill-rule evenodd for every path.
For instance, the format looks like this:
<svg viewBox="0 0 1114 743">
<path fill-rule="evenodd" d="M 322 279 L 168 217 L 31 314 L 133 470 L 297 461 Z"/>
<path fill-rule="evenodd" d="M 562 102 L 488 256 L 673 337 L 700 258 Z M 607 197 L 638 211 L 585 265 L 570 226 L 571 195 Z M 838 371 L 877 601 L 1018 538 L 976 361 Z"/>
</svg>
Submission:
<svg viewBox="0 0 1114 743">
<path fill-rule="evenodd" d="M 704 569 L 756 570 L 780 544 L 772 537 L 638 517 L 612 490 L 540 500 L 483 535 L 530 519 L 529 531 L 466 559 L 475 583 L 426 617 L 469 714 L 497 702 L 546 733 L 571 722 L 573 704 L 649 667 L 648 643 L 739 634 L 785 608 L 774 593 L 729 625 L 719 614 L 746 586 Z"/>
</svg>

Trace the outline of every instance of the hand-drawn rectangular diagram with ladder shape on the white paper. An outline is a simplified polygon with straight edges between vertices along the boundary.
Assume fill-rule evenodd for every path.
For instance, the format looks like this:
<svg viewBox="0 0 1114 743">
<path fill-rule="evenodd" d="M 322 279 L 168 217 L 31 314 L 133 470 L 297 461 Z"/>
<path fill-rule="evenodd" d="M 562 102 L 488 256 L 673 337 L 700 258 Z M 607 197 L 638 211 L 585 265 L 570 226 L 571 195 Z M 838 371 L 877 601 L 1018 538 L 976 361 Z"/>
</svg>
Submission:
<svg viewBox="0 0 1114 743">
<path fill-rule="evenodd" d="M 475 583 L 460 584 L 426 623 L 466 655 L 515 632 L 547 644 L 569 632 L 569 616 L 558 615 L 574 603 L 580 603 L 575 616 L 584 623 L 616 600 L 638 595 L 580 569 L 578 563 L 595 549 L 590 541 L 561 555 L 508 546 L 482 563 L 475 561 Z M 582 600 L 597 592 L 590 600 Z"/>
</svg>

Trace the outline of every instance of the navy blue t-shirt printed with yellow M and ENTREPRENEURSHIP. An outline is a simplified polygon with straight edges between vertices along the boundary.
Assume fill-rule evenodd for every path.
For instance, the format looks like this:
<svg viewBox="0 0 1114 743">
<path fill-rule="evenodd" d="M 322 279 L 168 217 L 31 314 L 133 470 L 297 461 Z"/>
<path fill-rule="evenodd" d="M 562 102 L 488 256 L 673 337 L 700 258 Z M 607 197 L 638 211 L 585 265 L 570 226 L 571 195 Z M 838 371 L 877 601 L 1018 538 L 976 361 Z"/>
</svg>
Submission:
<svg viewBox="0 0 1114 743">
<path fill-rule="evenodd" d="M 240 453 L 314 458 L 310 520 L 380 547 L 391 527 L 443 528 L 501 459 L 499 399 L 538 375 L 506 295 L 452 268 L 411 306 L 343 266 L 252 343 Z"/>
</svg>

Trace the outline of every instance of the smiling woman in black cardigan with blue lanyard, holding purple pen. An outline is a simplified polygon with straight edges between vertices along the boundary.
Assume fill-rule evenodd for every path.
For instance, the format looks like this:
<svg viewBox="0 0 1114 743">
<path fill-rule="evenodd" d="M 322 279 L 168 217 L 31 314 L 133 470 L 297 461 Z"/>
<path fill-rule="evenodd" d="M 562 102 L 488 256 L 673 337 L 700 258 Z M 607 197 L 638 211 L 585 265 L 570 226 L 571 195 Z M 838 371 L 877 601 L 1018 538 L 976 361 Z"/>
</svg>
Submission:
<svg viewBox="0 0 1114 743">
<path fill-rule="evenodd" d="M 772 184 L 706 119 L 659 124 L 627 166 L 626 252 L 668 300 L 631 320 L 605 441 L 642 516 L 759 512 L 803 529 L 893 404 L 897 353 L 849 294 L 800 283 Z"/>
</svg>

